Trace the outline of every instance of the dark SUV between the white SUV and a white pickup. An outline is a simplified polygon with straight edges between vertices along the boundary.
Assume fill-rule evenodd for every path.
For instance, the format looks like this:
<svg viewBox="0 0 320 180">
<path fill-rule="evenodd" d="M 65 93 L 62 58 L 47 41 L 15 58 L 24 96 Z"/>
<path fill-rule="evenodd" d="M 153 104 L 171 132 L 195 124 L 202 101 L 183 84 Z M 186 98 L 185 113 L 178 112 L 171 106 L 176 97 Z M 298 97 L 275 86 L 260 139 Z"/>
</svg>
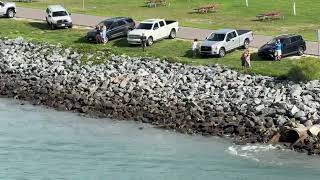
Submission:
<svg viewBox="0 0 320 180">
<path fill-rule="evenodd" d="M 106 19 L 100 22 L 98 25 L 105 25 L 107 27 L 106 42 L 110 39 L 127 36 L 128 32 L 135 28 L 135 22 L 132 20 L 132 18 L 128 17 Z M 96 34 L 97 30 L 93 29 L 87 33 L 85 38 L 88 41 L 94 41 Z"/>
</svg>

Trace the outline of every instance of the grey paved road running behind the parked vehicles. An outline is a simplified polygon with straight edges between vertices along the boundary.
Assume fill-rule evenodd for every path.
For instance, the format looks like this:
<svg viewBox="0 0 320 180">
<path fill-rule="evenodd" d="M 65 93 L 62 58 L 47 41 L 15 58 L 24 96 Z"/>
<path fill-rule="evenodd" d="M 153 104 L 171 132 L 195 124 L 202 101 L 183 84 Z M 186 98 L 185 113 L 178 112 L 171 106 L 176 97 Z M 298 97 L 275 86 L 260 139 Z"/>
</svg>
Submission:
<svg viewBox="0 0 320 180">
<path fill-rule="evenodd" d="M 45 11 L 39 10 L 39 9 L 18 7 L 16 16 L 19 18 L 45 20 Z M 106 17 L 76 14 L 76 13 L 73 13 L 71 16 L 72 16 L 73 23 L 75 25 L 82 25 L 82 26 L 95 26 L 100 21 L 106 19 Z M 180 27 L 177 37 L 181 39 L 198 38 L 199 40 L 203 40 L 211 32 L 212 30 L 209 30 L 209 29 Z M 267 41 L 269 41 L 271 38 L 272 37 L 270 36 L 254 35 L 254 40 L 253 42 L 251 42 L 251 46 L 254 48 L 259 48 L 260 46 L 265 44 Z M 317 55 L 318 44 L 316 42 L 307 42 L 306 54 Z"/>
</svg>

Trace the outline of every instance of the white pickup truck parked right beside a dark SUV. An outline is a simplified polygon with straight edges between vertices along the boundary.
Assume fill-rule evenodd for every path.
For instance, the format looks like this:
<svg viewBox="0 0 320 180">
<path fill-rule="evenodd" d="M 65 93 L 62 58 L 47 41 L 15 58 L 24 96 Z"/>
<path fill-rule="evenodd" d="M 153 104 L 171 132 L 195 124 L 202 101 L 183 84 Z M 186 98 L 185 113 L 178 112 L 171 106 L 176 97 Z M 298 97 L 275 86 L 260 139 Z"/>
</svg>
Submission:
<svg viewBox="0 0 320 180">
<path fill-rule="evenodd" d="M 151 46 L 154 41 L 164 38 L 174 39 L 179 30 L 177 21 L 163 19 L 149 19 L 141 22 L 138 27 L 128 33 L 129 44 L 141 44 L 141 36 L 147 39 L 147 46 Z"/>
</svg>

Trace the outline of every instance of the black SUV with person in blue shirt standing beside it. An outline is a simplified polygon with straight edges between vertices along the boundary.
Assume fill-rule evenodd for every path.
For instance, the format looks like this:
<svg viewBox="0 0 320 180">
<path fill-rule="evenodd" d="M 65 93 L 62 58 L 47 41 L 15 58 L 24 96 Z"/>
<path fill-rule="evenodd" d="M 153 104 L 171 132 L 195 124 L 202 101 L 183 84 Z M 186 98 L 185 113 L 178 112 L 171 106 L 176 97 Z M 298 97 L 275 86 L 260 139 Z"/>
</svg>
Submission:
<svg viewBox="0 0 320 180">
<path fill-rule="evenodd" d="M 258 50 L 258 56 L 264 59 L 274 59 L 275 44 L 277 39 L 280 39 L 282 44 L 282 57 L 297 54 L 303 55 L 306 51 L 306 42 L 300 35 L 288 34 L 273 38 L 267 44 L 263 45 Z"/>
</svg>

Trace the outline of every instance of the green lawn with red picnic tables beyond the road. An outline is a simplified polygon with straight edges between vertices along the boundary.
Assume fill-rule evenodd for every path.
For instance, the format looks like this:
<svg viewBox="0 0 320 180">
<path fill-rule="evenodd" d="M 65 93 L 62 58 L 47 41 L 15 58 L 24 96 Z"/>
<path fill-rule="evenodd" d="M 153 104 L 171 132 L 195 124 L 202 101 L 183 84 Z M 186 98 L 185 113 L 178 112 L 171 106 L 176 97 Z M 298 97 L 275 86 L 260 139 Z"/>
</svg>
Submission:
<svg viewBox="0 0 320 180">
<path fill-rule="evenodd" d="M 129 16 L 136 20 L 162 17 L 179 20 L 183 26 L 217 29 L 252 29 L 255 34 L 278 35 L 283 33 L 302 34 L 307 40 L 315 40 L 315 30 L 320 29 L 320 1 L 296 0 L 297 16 L 292 14 L 292 0 L 167 0 L 170 6 L 148 8 L 146 0 L 85 0 L 82 9 L 81 0 L 38 0 L 32 3 L 18 3 L 19 6 L 45 9 L 49 4 L 63 4 L 76 13 L 98 16 Z M 197 14 L 192 9 L 220 4 L 216 13 Z M 266 11 L 281 11 L 283 20 L 269 22 L 254 21 L 255 16 Z"/>
</svg>

